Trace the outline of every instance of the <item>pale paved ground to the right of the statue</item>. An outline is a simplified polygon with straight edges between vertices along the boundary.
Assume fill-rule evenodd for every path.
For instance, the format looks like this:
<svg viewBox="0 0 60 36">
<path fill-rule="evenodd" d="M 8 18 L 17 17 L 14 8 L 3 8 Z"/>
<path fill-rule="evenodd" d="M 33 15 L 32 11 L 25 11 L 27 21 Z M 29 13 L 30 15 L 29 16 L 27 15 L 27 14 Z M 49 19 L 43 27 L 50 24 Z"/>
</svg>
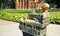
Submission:
<svg viewBox="0 0 60 36">
<path fill-rule="evenodd" d="M 60 36 L 60 25 L 50 24 L 47 27 L 47 36 Z"/>
</svg>

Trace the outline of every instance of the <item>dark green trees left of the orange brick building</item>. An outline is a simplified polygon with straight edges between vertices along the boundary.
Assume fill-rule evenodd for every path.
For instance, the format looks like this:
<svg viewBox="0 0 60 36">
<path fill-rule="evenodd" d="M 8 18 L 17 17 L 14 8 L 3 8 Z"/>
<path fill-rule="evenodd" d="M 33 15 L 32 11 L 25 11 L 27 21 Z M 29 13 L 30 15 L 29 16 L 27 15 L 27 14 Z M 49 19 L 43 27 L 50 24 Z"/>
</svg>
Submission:
<svg viewBox="0 0 60 36">
<path fill-rule="evenodd" d="M 0 9 L 15 8 L 15 0 L 0 0 Z"/>
</svg>

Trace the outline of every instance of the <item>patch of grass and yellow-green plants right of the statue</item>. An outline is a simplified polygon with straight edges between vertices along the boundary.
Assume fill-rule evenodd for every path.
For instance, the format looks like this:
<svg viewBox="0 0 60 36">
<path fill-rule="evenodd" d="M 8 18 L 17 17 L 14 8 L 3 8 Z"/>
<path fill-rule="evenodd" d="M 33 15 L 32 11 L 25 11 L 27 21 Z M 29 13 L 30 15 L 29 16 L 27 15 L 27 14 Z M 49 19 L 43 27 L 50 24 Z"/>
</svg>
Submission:
<svg viewBox="0 0 60 36">
<path fill-rule="evenodd" d="M 50 22 L 60 24 L 60 12 L 50 12 Z"/>
</svg>

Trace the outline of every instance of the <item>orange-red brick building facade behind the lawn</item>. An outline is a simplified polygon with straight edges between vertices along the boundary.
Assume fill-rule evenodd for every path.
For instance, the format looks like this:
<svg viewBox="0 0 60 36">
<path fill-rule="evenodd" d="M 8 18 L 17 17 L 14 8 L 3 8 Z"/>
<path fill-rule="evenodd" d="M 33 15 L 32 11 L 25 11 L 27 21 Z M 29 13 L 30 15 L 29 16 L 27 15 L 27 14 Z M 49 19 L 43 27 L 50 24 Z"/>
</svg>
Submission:
<svg viewBox="0 0 60 36">
<path fill-rule="evenodd" d="M 32 8 L 34 2 L 34 7 L 39 8 L 40 0 L 16 0 L 15 8 L 16 9 L 28 9 Z"/>
</svg>

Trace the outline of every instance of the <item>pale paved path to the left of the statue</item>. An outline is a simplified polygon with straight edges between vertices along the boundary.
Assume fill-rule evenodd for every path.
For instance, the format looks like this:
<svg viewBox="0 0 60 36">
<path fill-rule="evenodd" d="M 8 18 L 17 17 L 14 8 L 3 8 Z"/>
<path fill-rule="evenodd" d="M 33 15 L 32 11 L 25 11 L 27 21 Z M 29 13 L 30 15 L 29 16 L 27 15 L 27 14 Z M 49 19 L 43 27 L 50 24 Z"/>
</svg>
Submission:
<svg viewBox="0 0 60 36">
<path fill-rule="evenodd" d="M 23 36 L 23 34 L 18 23 L 0 20 L 0 36 Z"/>
</svg>

